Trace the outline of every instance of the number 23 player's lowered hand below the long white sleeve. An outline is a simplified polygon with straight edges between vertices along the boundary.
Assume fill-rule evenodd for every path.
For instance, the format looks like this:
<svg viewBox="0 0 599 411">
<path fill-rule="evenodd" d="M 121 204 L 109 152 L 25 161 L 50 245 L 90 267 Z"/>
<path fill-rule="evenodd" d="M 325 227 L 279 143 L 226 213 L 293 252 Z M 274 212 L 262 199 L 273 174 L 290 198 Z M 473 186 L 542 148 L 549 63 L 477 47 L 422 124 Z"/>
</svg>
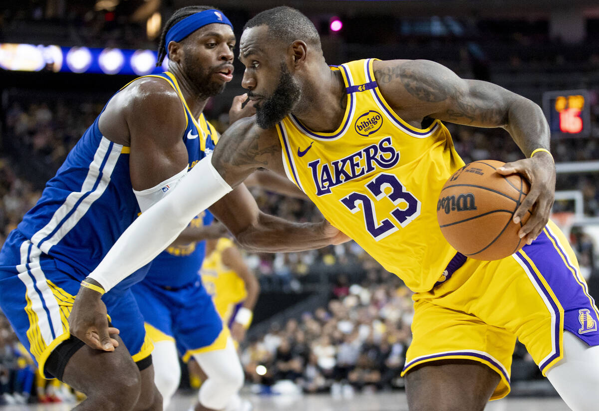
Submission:
<svg viewBox="0 0 599 411">
<path fill-rule="evenodd" d="M 98 284 L 92 279 L 87 282 Z M 69 315 L 71 334 L 89 345 L 102 351 L 114 351 L 119 342 L 110 334 L 119 334 L 119 330 L 108 327 L 106 306 L 100 299 L 102 294 L 86 287 L 79 288 L 75 302 Z"/>
</svg>

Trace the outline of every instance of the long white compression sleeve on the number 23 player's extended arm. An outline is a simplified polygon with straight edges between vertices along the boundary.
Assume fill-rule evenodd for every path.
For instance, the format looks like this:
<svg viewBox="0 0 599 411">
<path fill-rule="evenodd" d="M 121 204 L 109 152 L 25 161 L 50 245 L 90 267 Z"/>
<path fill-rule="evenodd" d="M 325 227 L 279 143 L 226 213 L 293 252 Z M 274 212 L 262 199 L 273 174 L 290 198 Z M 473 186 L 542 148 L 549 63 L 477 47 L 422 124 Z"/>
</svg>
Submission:
<svg viewBox="0 0 599 411">
<path fill-rule="evenodd" d="M 231 186 L 210 160 L 211 156 L 200 160 L 168 196 L 141 214 L 89 277 L 110 290 L 167 248 L 193 217 L 229 193 Z"/>
</svg>

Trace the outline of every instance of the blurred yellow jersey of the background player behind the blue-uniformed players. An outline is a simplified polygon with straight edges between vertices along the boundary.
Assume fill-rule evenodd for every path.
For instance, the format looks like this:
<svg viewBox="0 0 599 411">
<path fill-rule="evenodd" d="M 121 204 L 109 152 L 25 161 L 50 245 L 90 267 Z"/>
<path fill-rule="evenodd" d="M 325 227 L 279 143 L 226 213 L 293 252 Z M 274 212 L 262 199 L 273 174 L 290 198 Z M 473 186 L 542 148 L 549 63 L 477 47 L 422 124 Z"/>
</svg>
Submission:
<svg viewBox="0 0 599 411">
<path fill-rule="evenodd" d="M 202 282 L 212 296 L 214 306 L 223 319 L 229 322 L 235 305 L 246 299 L 246 284 L 237 273 L 229 269 L 222 260 L 225 249 L 234 246 L 228 238 L 220 238 L 214 251 L 204 259 L 202 264 Z"/>
</svg>

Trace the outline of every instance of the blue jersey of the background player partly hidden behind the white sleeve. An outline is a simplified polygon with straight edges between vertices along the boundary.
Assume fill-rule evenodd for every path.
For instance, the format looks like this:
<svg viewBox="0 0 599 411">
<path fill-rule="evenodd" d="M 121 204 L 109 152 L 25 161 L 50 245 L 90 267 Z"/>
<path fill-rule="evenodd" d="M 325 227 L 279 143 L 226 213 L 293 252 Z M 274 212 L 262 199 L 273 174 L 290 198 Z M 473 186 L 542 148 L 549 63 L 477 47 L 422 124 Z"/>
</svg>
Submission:
<svg viewBox="0 0 599 411">
<path fill-rule="evenodd" d="M 206 210 L 195 217 L 189 225 L 192 227 L 210 226 L 213 220 L 213 215 Z M 144 281 L 173 288 L 198 281 L 198 272 L 204 261 L 205 252 L 205 241 L 172 245 L 152 261 L 152 267 Z"/>
</svg>

